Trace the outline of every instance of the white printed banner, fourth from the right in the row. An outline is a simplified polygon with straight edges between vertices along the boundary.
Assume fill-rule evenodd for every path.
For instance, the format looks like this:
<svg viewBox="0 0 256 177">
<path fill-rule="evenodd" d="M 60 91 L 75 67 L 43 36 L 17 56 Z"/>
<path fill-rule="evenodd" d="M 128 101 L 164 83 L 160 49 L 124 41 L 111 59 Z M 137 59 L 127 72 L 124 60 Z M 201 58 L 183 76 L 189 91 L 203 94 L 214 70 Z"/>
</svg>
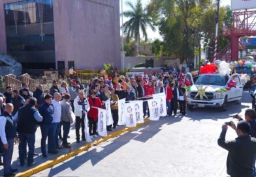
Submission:
<svg viewBox="0 0 256 177">
<path fill-rule="evenodd" d="M 135 104 L 125 103 L 126 126 L 136 127 Z"/>
</svg>

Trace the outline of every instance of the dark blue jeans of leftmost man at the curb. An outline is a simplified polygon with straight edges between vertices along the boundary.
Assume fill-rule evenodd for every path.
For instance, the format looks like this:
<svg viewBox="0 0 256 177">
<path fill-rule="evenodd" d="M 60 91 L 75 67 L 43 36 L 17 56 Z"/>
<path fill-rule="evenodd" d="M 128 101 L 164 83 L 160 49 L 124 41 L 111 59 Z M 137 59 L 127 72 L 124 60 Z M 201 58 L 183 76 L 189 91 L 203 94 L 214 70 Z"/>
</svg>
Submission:
<svg viewBox="0 0 256 177">
<path fill-rule="evenodd" d="M 7 139 L 8 150 L 3 148 L 3 170 L 4 173 L 9 173 L 12 167 L 10 167 L 10 163 L 12 162 L 12 154 L 13 154 L 13 145 L 14 139 Z"/>
</svg>

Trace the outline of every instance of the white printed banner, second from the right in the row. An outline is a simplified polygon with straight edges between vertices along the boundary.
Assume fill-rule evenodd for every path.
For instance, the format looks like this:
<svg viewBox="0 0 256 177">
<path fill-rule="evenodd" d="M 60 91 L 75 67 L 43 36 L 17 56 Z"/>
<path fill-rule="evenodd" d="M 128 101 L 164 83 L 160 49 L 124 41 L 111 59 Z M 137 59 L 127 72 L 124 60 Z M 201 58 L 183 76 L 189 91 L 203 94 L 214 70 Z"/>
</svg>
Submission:
<svg viewBox="0 0 256 177">
<path fill-rule="evenodd" d="M 148 109 L 150 109 L 150 120 L 159 120 L 160 118 L 161 99 L 148 100 Z"/>
</svg>

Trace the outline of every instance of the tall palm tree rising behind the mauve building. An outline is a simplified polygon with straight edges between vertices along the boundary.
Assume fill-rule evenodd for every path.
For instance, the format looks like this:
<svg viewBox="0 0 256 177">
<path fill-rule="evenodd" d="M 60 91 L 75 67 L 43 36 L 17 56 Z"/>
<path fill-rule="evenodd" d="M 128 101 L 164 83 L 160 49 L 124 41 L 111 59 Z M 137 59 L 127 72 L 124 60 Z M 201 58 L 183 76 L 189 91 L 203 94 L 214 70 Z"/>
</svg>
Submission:
<svg viewBox="0 0 256 177">
<path fill-rule="evenodd" d="M 131 1 L 127 1 L 126 5 L 131 8 L 121 14 L 130 20 L 126 21 L 122 28 L 123 33 L 127 34 L 127 39 L 134 37 L 137 42 L 137 51 L 140 53 L 140 30 L 145 38 L 148 40 L 148 34 L 146 32 L 146 27 L 148 25 L 150 28 L 155 31 L 155 27 L 152 25 L 152 18 L 148 15 L 146 8 L 142 7 L 141 0 L 137 0 L 136 5 L 134 6 Z"/>
</svg>

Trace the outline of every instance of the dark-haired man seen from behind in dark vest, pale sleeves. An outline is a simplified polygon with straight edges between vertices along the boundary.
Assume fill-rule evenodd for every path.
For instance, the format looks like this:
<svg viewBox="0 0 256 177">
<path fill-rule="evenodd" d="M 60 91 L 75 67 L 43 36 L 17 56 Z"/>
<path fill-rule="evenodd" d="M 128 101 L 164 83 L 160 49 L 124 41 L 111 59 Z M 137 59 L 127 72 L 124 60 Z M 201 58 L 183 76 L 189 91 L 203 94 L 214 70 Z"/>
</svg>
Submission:
<svg viewBox="0 0 256 177">
<path fill-rule="evenodd" d="M 25 157 L 27 156 L 27 148 L 29 146 L 29 155 L 27 157 L 27 167 L 35 165 L 37 162 L 33 160 L 35 151 L 35 132 L 37 131 L 38 122 L 42 122 L 42 116 L 35 109 L 37 103 L 36 98 L 31 98 L 29 104 L 21 107 L 17 114 L 17 131 L 19 134 L 19 158 L 20 165 L 24 166 Z M 16 117 L 15 117 L 16 118 Z"/>
</svg>

